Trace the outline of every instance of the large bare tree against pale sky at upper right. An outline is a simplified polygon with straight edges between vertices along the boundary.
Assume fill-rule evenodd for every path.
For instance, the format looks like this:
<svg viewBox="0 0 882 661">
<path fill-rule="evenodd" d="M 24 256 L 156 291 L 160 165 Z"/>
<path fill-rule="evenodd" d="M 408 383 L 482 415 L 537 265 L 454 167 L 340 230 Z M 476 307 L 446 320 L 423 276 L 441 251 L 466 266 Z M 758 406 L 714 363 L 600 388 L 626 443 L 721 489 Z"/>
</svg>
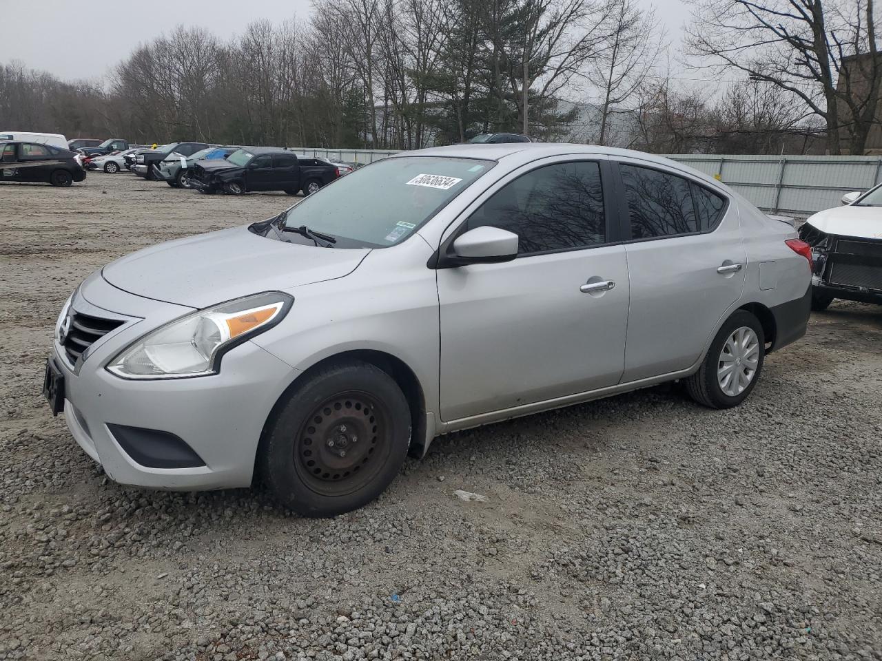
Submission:
<svg viewBox="0 0 882 661">
<path fill-rule="evenodd" d="M 837 4 L 841 3 L 841 4 Z M 863 153 L 882 60 L 873 0 L 691 0 L 687 54 L 795 95 L 826 123 L 827 150 Z"/>
</svg>

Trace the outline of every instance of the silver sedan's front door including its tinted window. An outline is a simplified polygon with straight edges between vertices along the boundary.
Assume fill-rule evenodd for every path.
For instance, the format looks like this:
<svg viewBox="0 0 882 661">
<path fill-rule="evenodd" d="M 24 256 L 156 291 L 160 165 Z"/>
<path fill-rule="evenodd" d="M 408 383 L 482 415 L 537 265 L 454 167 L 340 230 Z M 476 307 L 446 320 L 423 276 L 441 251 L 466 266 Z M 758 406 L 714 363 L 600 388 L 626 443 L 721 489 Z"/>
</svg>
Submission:
<svg viewBox="0 0 882 661">
<path fill-rule="evenodd" d="M 624 248 L 608 245 L 600 163 L 531 167 L 497 184 L 462 227 L 518 234 L 518 257 L 437 271 L 445 422 L 622 375 L 628 271 Z"/>
</svg>

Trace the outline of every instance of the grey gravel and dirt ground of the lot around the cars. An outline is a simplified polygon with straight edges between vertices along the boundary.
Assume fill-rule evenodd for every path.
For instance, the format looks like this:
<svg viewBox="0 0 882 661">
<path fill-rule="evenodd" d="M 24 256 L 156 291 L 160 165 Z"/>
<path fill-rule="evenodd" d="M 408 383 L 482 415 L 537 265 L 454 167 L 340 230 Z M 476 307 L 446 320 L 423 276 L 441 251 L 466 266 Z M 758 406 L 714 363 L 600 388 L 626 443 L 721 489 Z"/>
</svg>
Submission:
<svg viewBox="0 0 882 661">
<path fill-rule="evenodd" d="M 0 185 L 0 658 L 882 658 L 878 307 L 812 316 L 735 410 L 668 386 L 452 434 L 333 520 L 109 481 L 41 399 L 64 299 L 292 199 Z"/>
</svg>

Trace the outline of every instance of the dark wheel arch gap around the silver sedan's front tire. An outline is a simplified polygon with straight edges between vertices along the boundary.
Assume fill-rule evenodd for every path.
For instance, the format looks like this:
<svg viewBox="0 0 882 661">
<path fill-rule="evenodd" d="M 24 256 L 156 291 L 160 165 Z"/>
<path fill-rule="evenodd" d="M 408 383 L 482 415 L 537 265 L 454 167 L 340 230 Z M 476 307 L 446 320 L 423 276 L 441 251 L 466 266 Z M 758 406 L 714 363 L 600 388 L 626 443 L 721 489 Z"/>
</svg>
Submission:
<svg viewBox="0 0 882 661">
<path fill-rule="evenodd" d="M 275 404 L 273 404 L 269 415 L 267 415 L 263 431 L 260 434 L 260 442 L 263 443 L 270 421 L 275 418 L 280 407 L 288 400 L 291 391 L 300 383 L 303 383 L 304 379 L 310 378 L 311 375 L 328 365 L 356 361 L 370 363 L 370 365 L 382 369 L 387 375 L 392 376 L 392 379 L 398 384 L 401 392 L 404 393 L 405 399 L 407 399 L 407 406 L 410 409 L 411 434 L 409 452 L 416 457 L 422 457 L 426 450 L 429 449 L 430 439 L 428 435 L 434 435 L 434 429 L 430 430 L 428 428 L 426 397 L 422 383 L 414 370 L 404 360 L 392 355 L 392 353 L 378 349 L 348 349 L 333 353 L 320 360 L 316 360 L 310 367 L 296 375 L 295 379 L 288 384 L 288 387 L 281 392 Z"/>
</svg>

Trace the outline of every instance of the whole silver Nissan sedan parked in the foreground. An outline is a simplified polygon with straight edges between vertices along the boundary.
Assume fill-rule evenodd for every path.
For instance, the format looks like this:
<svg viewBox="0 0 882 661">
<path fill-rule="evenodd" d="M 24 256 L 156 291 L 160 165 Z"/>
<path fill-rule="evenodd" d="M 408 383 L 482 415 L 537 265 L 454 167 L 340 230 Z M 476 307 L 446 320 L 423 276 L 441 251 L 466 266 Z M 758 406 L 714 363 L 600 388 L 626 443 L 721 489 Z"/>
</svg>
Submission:
<svg viewBox="0 0 882 661">
<path fill-rule="evenodd" d="M 433 148 L 96 271 L 44 390 L 123 484 L 331 516 L 456 429 L 676 379 L 738 405 L 810 284 L 793 227 L 669 160 Z"/>
</svg>

